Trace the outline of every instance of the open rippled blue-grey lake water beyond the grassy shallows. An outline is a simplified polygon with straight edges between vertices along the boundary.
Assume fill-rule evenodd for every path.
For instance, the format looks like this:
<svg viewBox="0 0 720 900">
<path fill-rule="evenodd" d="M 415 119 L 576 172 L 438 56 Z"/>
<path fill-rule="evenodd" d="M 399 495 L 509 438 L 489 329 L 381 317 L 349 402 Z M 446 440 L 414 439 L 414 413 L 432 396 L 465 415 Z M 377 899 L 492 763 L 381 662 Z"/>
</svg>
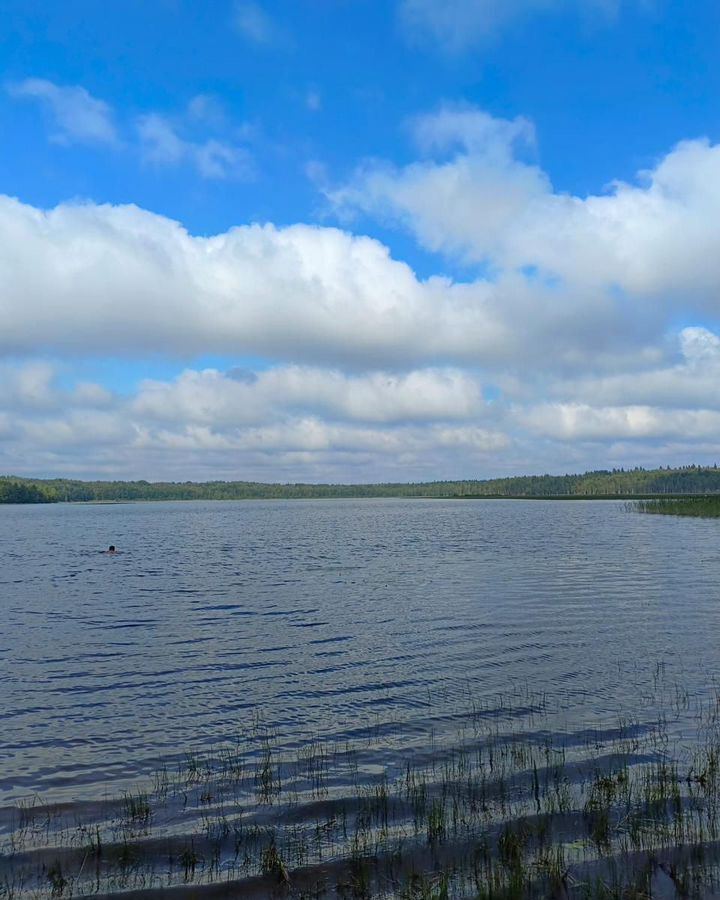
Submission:
<svg viewBox="0 0 720 900">
<path fill-rule="evenodd" d="M 278 752 L 373 734 L 368 773 L 513 698 L 570 744 L 642 730 L 659 675 L 678 709 L 715 690 L 719 529 L 600 501 L 0 506 L 0 808 L 82 809 L 258 722 Z"/>
</svg>

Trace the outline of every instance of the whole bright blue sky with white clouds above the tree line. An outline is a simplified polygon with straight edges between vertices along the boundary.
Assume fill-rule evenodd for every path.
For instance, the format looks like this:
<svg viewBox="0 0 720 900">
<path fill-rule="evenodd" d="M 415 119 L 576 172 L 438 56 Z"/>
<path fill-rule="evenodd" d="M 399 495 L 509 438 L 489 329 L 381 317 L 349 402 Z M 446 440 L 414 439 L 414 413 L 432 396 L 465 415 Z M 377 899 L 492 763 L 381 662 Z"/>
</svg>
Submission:
<svg viewBox="0 0 720 900">
<path fill-rule="evenodd" d="M 0 473 L 718 461 L 716 0 L 0 6 Z"/>
</svg>

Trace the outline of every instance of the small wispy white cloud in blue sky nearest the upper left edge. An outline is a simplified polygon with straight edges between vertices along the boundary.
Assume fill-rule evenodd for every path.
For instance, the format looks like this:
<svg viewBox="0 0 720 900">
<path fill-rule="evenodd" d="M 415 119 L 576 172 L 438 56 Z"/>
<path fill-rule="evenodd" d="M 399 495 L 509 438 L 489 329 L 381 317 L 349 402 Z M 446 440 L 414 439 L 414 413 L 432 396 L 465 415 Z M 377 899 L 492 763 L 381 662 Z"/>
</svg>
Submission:
<svg viewBox="0 0 720 900">
<path fill-rule="evenodd" d="M 41 102 L 52 116 L 58 143 L 116 144 L 113 112 L 103 100 L 78 85 L 63 87 L 43 78 L 28 78 L 8 88 L 13 97 Z"/>
</svg>

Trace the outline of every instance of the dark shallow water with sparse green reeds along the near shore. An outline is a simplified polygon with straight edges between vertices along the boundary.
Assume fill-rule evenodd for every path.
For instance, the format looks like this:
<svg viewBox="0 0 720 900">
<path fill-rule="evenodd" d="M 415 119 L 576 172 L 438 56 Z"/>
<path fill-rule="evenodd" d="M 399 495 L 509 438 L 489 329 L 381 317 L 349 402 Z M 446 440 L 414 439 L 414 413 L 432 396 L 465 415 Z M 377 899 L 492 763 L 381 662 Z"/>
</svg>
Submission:
<svg viewBox="0 0 720 900">
<path fill-rule="evenodd" d="M 115 799 L 16 806 L 0 820 L 0 897 L 706 897 L 720 694 L 695 705 L 663 679 L 658 666 L 647 721 L 563 731 L 525 690 L 468 701 L 442 746 L 432 730 L 383 745 L 379 720 L 342 744 L 284 746 L 256 715 Z"/>
</svg>

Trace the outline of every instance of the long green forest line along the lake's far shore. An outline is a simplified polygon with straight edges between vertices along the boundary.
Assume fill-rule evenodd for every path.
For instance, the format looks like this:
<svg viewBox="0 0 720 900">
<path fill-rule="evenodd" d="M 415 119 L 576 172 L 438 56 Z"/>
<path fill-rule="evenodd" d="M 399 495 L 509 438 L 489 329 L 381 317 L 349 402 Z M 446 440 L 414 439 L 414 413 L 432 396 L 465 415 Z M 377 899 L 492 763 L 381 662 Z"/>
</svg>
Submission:
<svg viewBox="0 0 720 900">
<path fill-rule="evenodd" d="M 627 497 L 720 494 L 717 465 L 600 469 L 582 475 L 525 475 L 414 484 L 264 484 L 256 481 L 75 481 L 0 476 L 0 503 L 114 500 L 270 500 L 342 497 Z"/>
</svg>

